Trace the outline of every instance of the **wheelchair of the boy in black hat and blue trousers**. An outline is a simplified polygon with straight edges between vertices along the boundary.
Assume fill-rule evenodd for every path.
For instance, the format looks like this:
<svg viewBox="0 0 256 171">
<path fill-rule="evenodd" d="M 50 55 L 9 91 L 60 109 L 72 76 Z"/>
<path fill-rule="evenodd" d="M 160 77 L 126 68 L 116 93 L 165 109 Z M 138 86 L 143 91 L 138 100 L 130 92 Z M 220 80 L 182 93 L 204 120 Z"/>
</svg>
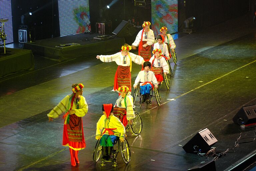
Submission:
<svg viewBox="0 0 256 171">
<path fill-rule="evenodd" d="M 139 91 L 139 94 L 138 94 L 138 91 Z M 161 104 L 161 97 L 160 97 L 158 88 L 154 88 L 154 92 L 155 92 L 155 95 L 153 95 L 153 88 L 151 87 L 150 93 L 149 93 L 149 107 L 151 107 L 152 105 L 153 96 L 156 97 L 157 105 L 159 106 Z M 133 105 L 135 104 L 135 100 L 137 96 L 140 97 L 139 107 L 142 107 L 142 103 L 141 103 L 142 94 L 140 93 L 140 83 L 137 84 L 137 87 L 134 89 L 134 92 L 133 92 Z"/>
</svg>

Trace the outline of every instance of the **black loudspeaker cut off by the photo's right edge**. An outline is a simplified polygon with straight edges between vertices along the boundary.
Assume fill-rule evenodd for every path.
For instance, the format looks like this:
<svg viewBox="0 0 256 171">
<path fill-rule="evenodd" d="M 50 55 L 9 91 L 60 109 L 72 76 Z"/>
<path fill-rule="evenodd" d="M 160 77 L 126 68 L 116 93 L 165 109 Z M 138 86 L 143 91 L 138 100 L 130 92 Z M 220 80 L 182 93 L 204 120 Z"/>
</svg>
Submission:
<svg viewBox="0 0 256 171">
<path fill-rule="evenodd" d="M 233 122 L 237 124 L 256 123 L 256 105 L 242 107 L 233 117 Z"/>
</svg>

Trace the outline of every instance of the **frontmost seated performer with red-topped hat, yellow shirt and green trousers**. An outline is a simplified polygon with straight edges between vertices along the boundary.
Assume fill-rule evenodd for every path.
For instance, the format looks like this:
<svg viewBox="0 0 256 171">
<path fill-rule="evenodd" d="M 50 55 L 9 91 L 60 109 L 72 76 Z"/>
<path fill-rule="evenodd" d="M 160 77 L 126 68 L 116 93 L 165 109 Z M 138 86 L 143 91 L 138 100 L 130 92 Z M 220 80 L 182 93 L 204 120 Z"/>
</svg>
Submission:
<svg viewBox="0 0 256 171">
<path fill-rule="evenodd" d="M 120 139 L 124 142 L 125 127 L 122 122 L 113 115 L 113 104 L 102 105 L 103 115 L 97 122 L 95 138 L 100 139 L 103 155 L 101 160 L 108 161 L 113 150 L 113 144 Z"/>
</svg>

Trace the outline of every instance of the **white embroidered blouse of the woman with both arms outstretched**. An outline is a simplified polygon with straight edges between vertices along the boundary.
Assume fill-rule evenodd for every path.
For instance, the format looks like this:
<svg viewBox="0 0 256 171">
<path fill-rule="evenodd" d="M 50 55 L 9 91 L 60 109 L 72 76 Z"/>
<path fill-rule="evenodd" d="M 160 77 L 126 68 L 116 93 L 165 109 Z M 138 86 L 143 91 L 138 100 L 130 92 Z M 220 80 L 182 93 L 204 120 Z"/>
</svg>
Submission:
<svg viewBox="0 0 256 171">
<path fill-rule="evenodd" d="M 141 56 L 135 55 L 135 54 L 130 53 L 130 52 L 128 52 L 128 53 L 130 54 L 131 60 L 134 63 L 139 64 L 139 65 L 143 64 L 144 59 Z M 100 55 L 99 59 L 102 62 L 113 62 L 113 61 L 115 61 L 117 65 L 124 66 L 124 67 L 130 66 L 129 55 L 123 56 L 122 52 L 118 52 L 118 53 L 113 54 L 113 55 Z"/>
</svg>

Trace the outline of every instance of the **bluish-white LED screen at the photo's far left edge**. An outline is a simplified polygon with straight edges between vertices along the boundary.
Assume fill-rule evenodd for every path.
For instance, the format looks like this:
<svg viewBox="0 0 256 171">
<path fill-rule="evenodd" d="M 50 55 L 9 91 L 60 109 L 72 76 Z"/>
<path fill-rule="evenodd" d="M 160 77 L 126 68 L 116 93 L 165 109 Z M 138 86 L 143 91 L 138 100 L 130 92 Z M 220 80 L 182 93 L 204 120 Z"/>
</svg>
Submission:
<svg viewBox="0 0 256 171">
<path fill-rule="evenodd" d="M 11 8 L 11 0 L 0 0 L 0 19 L 8 19 L 7 22 L 0 22 L 0 44 L 3 44 L 1 39 L 2 32 L 6 34 L 5 43 L 13 42 L 13 30 L 12 30 L 12 8 Z M 2 30 L 2 26 L 4 23 L 4 30 Z"/>
</svg>

